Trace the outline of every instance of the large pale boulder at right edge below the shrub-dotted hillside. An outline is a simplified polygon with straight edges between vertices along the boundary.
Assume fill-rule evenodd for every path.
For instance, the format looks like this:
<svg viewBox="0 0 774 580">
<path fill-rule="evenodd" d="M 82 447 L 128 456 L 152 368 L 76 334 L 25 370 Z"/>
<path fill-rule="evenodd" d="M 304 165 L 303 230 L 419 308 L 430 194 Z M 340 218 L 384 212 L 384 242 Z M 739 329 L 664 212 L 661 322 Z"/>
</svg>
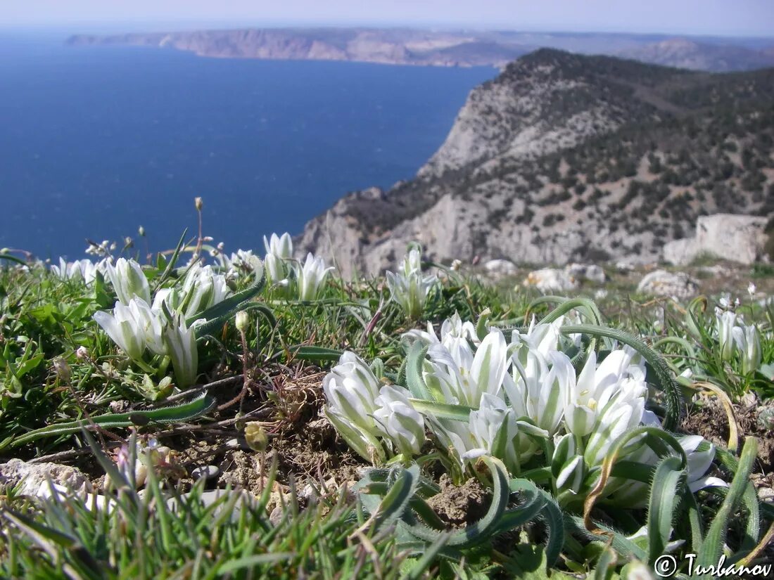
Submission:
<svg viewBox="0 0 774 580">
<path fill-rule="evenodd" d="M 676 265 L 690 264 L 700 254 L 722 260 L 753 264 L 764 259 L 765 217 L 716 213 L 697 220 L 696 235 L 664 244 L 663 259 Z"/>
</svg>

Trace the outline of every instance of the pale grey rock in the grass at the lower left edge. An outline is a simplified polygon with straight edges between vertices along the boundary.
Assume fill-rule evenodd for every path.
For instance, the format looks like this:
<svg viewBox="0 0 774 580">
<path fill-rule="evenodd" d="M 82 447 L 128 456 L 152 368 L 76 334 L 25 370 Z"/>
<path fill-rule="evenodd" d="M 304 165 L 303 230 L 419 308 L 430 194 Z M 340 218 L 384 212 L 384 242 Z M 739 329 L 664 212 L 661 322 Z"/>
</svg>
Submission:
<svg viewBox="0 0 774 580">
<path fill-rule="evenodd" d="M 26 496 L 46 495 L 48 482 L 77 493 L 91 493 L 91 481 L 76 467 L 59 463 L 28 463 L 10 459 L 0 464 L 0 486 L 15 487 Z M 59 489 L 59 488 L 57 488 Z"/>
</svg>

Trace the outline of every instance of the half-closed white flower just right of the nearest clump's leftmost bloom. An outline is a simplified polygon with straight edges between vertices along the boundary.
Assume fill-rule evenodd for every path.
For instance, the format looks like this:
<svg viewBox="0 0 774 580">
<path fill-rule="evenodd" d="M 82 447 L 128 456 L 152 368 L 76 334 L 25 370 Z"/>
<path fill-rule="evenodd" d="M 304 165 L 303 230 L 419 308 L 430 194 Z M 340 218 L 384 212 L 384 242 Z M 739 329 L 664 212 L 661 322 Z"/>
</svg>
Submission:
<svg viewBox="0 0 774 580">
<path fill-rule="evenodd" d="M 425 441 L 425 421 L 409 402 L 409 391 L 385 385 L 376 397 L 374 418 L 378 428 L 403 455 L 417 455 Z"/>
</svg>

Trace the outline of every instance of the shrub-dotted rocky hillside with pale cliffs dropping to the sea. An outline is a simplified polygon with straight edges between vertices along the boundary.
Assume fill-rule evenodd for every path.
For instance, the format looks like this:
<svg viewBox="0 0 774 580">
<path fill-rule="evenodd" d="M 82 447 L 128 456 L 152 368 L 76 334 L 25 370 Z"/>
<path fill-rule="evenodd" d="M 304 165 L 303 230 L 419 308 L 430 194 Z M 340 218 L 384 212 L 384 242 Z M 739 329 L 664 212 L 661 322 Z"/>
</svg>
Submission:
<svg viewBox="0 0 774 580">
<path fill-rule="evenodd" d="M 472 91 L 415 179 L 344 197 L 303 250 L 345 273 L 437 261 L 659 258 L 700 215 L 774 212 L 774 70 L 709 74 L 541 49 Z"/>
</svg>

